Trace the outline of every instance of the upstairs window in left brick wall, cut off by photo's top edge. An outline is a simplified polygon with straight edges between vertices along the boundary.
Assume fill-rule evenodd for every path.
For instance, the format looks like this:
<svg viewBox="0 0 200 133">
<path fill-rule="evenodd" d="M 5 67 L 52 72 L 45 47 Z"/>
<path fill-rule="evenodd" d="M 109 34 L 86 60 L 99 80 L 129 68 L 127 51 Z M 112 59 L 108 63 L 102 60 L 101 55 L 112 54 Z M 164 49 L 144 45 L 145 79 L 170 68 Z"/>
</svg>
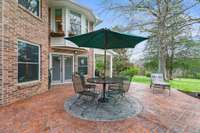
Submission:
<svg viewBox="0 0 200 133">
<path fill-rule="evenodd" d="M 18 3 L 36 16 L 40 16 L 40 0 L 18 0 Z"/>
</svg>

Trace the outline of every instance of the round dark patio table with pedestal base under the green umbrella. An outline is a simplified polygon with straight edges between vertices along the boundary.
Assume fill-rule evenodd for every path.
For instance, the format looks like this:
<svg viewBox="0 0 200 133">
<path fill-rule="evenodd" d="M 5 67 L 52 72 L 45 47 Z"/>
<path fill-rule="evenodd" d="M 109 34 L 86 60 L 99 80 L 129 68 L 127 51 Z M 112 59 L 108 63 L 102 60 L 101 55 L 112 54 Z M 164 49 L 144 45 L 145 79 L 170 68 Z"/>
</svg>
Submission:
<svg viewBox="0 0 200 133">
<path fill-rule="evenodd" d="M 117 84 L 120 81 L 114 78 L 89 78 L 87 82 L 94 83 L 94 84 L 102 84 L 103 85 L 103 92 L 102 97 L 98 99 L 99 102 L 108 102 L 108 98 L 106 98 L 106 85 L 107 84 Z"/>
</svg>

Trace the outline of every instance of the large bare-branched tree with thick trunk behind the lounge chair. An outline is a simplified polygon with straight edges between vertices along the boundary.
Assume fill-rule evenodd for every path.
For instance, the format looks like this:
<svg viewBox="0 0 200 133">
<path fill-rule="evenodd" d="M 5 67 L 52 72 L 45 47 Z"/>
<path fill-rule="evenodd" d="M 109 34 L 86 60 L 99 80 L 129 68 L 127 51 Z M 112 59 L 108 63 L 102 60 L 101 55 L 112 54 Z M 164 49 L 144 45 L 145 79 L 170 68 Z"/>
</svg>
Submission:
<svg viewBox="0 0 200 133">
<path fill-rule="evenodd" d="M 170 68 L 168 64 L 173 64 L 174 49 L 177 44 L 180 44 L 178 40 L 189 26 L 200 22 L 200 18 L 193 18 L 186 14 L 188 10 L 199 5 L 199 2 L 193 2 L 187 7 L 183 2 L 183 0 L 128 0 L 124 2 L 104 0 L 104 7 L 109 11 L 115 11 L 119 16 L 126 17 L 127 24 L 123 26 L 124 31 L 140 30 L 149 34 L 147 53 L 153 53 L 159 57 L 159 72 L 167 78 L 168 73 L 171 73 L 167 70 Z"/>
</svg>

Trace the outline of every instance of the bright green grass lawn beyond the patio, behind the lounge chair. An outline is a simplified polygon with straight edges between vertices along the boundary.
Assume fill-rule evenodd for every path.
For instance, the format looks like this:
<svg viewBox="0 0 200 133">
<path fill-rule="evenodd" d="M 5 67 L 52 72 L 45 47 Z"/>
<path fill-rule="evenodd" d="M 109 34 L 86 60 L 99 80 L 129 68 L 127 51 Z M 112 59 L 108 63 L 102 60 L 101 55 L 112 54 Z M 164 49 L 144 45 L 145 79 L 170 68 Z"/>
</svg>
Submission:
<svg viewBox="0 0 200 133">
<path fill-rule="evenodd" d="M 145 76 L 134 76 L 133 82 L 150 84 L 150 78 Z M 199 79 L 174 79 L 170 81 L 171 87 L 186 91 L 186 92 L 200 92 Z"/>
</svg>

